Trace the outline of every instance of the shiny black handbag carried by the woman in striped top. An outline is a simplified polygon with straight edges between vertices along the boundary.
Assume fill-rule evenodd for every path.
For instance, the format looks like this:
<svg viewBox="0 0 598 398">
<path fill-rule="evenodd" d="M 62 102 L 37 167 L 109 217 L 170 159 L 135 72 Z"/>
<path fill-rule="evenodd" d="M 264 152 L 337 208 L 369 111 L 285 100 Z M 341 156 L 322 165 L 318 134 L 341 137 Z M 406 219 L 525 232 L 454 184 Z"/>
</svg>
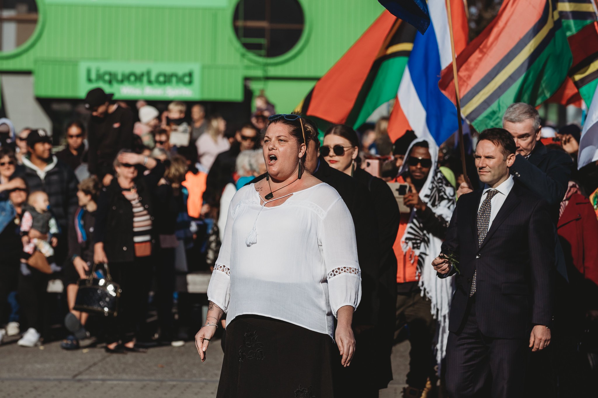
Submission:
<svg viewBox="0 0 598 398">
<path fill-rule="evenodd" d="M 98 279 L 95 276 L 97 264 L 86 279 L 77 282 L 77 298 L 75 299 L 76 311 L 88 313 L 100 313 L 104 316 L 117 316 L 118 298 L 121 294 L 120 285 L 112 282 L 108 264 L 102 264 L 106 270 L 106 276 Z"/>
</svg>

